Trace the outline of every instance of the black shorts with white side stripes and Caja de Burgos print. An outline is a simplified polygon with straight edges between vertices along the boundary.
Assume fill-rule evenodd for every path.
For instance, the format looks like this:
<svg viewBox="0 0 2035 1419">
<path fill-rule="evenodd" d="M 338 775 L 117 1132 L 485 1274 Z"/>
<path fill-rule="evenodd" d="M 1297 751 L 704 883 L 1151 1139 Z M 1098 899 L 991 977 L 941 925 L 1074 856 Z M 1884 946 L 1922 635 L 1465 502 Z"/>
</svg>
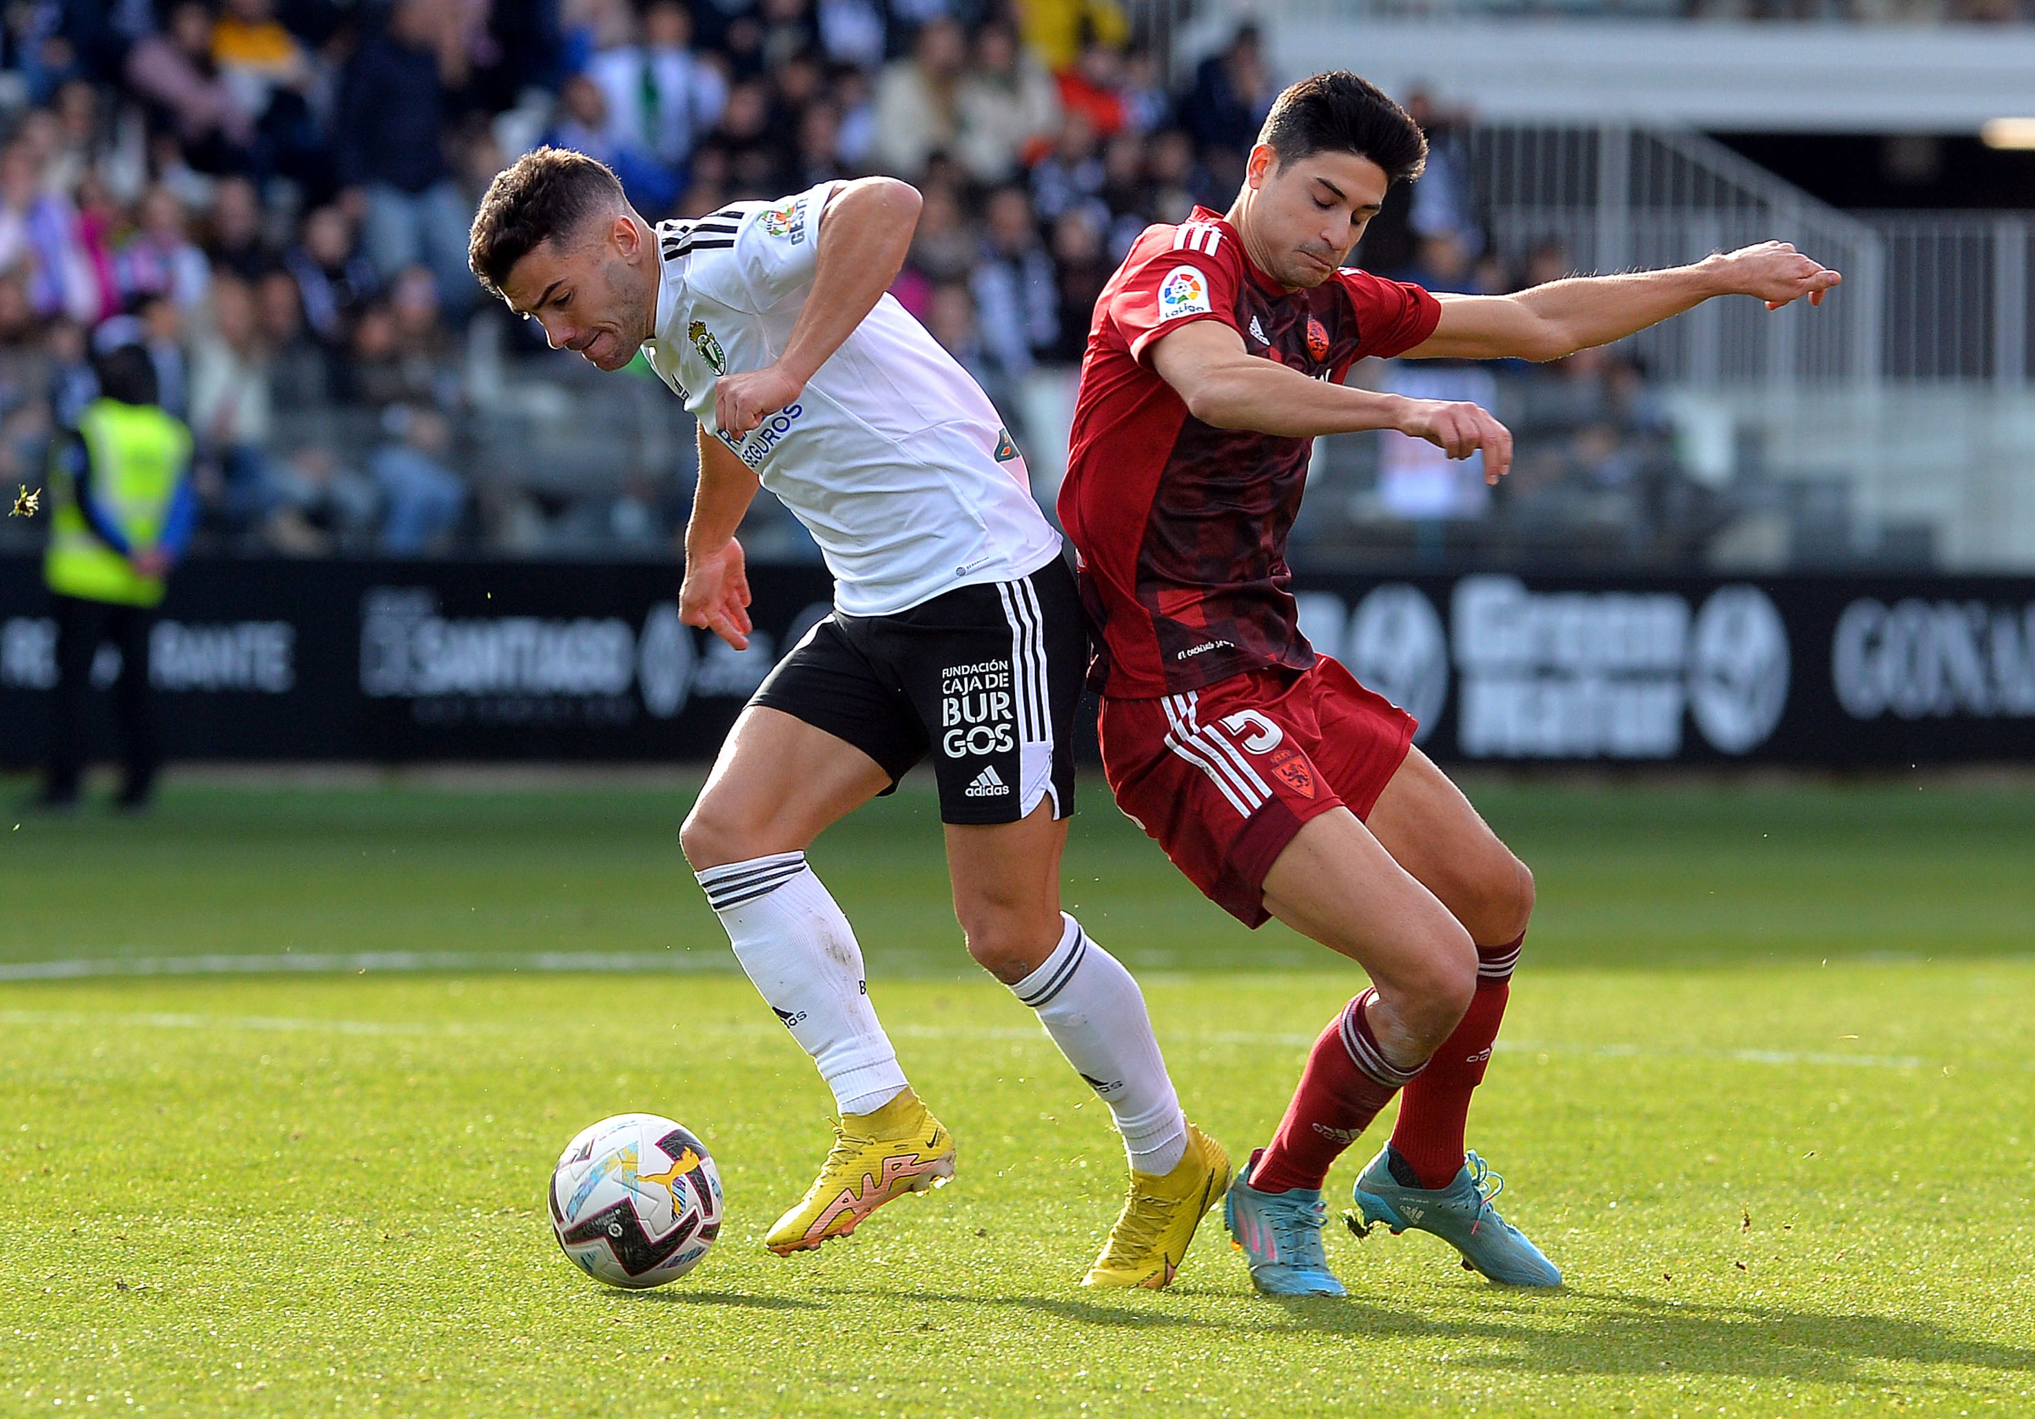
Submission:
<svg viewBox="0 0 2035 1419">
<path fill-rule="evenodd" d="M 847 739 L 891 776 L 883 792 L 930 753 L 942 822 L 1018 822 L 1048 794 L 1064 818 L 1087 658 L 1081 592 L 1054 558 L 889 617 L 836 611 L 749 702 Z"/>
</svg>

